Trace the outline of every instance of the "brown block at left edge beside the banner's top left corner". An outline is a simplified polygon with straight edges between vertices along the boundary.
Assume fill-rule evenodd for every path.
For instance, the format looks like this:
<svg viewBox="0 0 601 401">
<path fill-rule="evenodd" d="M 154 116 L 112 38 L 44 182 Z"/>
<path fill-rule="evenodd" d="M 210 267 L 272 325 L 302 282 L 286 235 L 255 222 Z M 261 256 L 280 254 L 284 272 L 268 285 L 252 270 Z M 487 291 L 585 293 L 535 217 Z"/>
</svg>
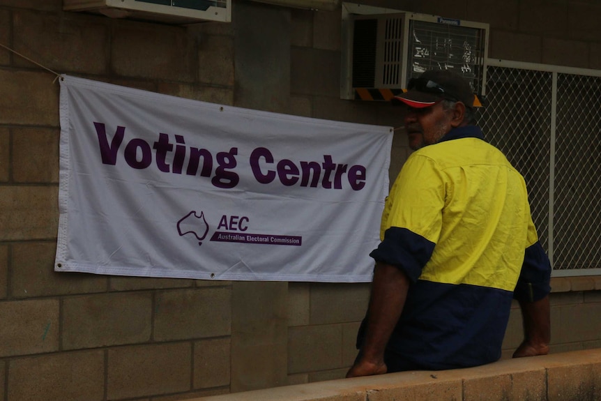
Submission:
<svg viewBox="0 0 601 401">
<path fill-rule="evenodd" d="M 0 123 L 59 126 L 59 84 L 47 72 L 0 70 Z M 10 96 L 8 95 L 10 93 Z"/>
</svg>

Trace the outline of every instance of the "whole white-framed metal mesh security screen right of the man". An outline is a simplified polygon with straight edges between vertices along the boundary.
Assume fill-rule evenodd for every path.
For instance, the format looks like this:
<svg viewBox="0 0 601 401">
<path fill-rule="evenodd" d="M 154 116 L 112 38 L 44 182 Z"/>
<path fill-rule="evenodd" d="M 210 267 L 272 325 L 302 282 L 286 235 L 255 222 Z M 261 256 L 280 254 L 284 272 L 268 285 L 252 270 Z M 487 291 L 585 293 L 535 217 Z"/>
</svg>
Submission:
<svg viewBox="0 0 601 401">
<path fill-rule="evenodd" d="M 489 61 L 478 124 L 524 175 L 554 275 L 601 274 L 601 77 L 544 67 Z"/>
</svg>

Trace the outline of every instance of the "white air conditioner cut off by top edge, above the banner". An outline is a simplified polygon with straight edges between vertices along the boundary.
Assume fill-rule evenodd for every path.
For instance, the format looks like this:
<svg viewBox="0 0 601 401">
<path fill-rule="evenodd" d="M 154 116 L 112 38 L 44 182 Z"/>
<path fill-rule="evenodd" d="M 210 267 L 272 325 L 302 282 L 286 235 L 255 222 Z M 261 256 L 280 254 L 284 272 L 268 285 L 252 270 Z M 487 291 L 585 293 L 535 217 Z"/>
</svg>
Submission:
<svg viewBox="0 0 601 401">
<path fill-rule="evenodd" d="M 231 21 L 231 0 L 63 0 L 63 10 L 167 24 Z"/>
</svg>

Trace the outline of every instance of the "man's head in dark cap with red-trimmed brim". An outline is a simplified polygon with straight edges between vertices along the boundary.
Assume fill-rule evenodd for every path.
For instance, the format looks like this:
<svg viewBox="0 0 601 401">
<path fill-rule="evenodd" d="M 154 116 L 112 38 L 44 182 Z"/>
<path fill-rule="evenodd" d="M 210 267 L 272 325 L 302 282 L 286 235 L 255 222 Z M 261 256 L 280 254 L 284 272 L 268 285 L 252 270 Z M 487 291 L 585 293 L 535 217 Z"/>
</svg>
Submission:
<svg viewBox="0 0 601 401">
<path fill-rule="evenodd" d="M 413 150 L 435 144 L 452 128 L 471 123 L 473 101 L 469 83 L 446 70 L 426 71 L 393 98 L 393 104 L 406 108 L 405 129 Z"/>
</svg>

